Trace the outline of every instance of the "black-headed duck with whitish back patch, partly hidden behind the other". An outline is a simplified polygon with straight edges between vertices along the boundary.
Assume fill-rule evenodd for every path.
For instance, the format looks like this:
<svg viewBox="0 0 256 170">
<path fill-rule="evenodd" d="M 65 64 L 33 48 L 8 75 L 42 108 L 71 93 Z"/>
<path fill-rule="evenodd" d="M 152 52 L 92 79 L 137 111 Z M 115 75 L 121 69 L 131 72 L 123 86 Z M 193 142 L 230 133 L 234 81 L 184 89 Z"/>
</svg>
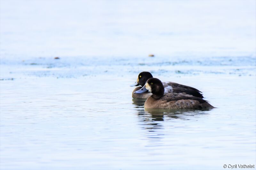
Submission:
<svg viewBox="0 0 256 170">
<path fill-rule="evenodd" d="M 147 71 L 143 71 L 138 75 L 136 82 L 134 84 L 130 85 L 131 87 L 138 86 L 132 91 L 133 98 L 148 99 L 148 97 L 152 95 L 151 92 L 145 92 L 143 94 L 134 93 L 134 92 L 140 90 L 140 88 L 145 85 L 146 81 L 149 78 L 153 78 L 153 76 L 150 72 L 147 72 Z M 163 82 L 163 85 L 164 85 L 164 94 L 182 93 L 182 94 L 190 94 L 195 97 L 202 98 L 202 99 L 204 98 L 202 92 L 197 90 L 194 87 L 190 87 L 187 85 L 181 85 L 179 83 L 174 83 L 174 82 Z"/>
</svg>

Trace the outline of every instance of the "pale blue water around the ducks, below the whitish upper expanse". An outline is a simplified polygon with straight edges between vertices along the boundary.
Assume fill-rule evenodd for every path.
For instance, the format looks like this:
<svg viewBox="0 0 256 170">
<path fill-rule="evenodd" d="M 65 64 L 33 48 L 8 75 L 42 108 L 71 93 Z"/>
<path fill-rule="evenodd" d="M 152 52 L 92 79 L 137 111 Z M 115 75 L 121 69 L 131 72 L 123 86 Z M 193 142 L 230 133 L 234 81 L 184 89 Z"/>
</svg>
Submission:
<svg viewBox="0 0 256 170">
<path fill-rule="evenodd" d="M 162 60 L 2 59 L 1 169 L 255 164 L 255 58 Z M 129 86 L 142 70 L 200 89 L 217 108 L 145 110 Z"/>
</svg>

